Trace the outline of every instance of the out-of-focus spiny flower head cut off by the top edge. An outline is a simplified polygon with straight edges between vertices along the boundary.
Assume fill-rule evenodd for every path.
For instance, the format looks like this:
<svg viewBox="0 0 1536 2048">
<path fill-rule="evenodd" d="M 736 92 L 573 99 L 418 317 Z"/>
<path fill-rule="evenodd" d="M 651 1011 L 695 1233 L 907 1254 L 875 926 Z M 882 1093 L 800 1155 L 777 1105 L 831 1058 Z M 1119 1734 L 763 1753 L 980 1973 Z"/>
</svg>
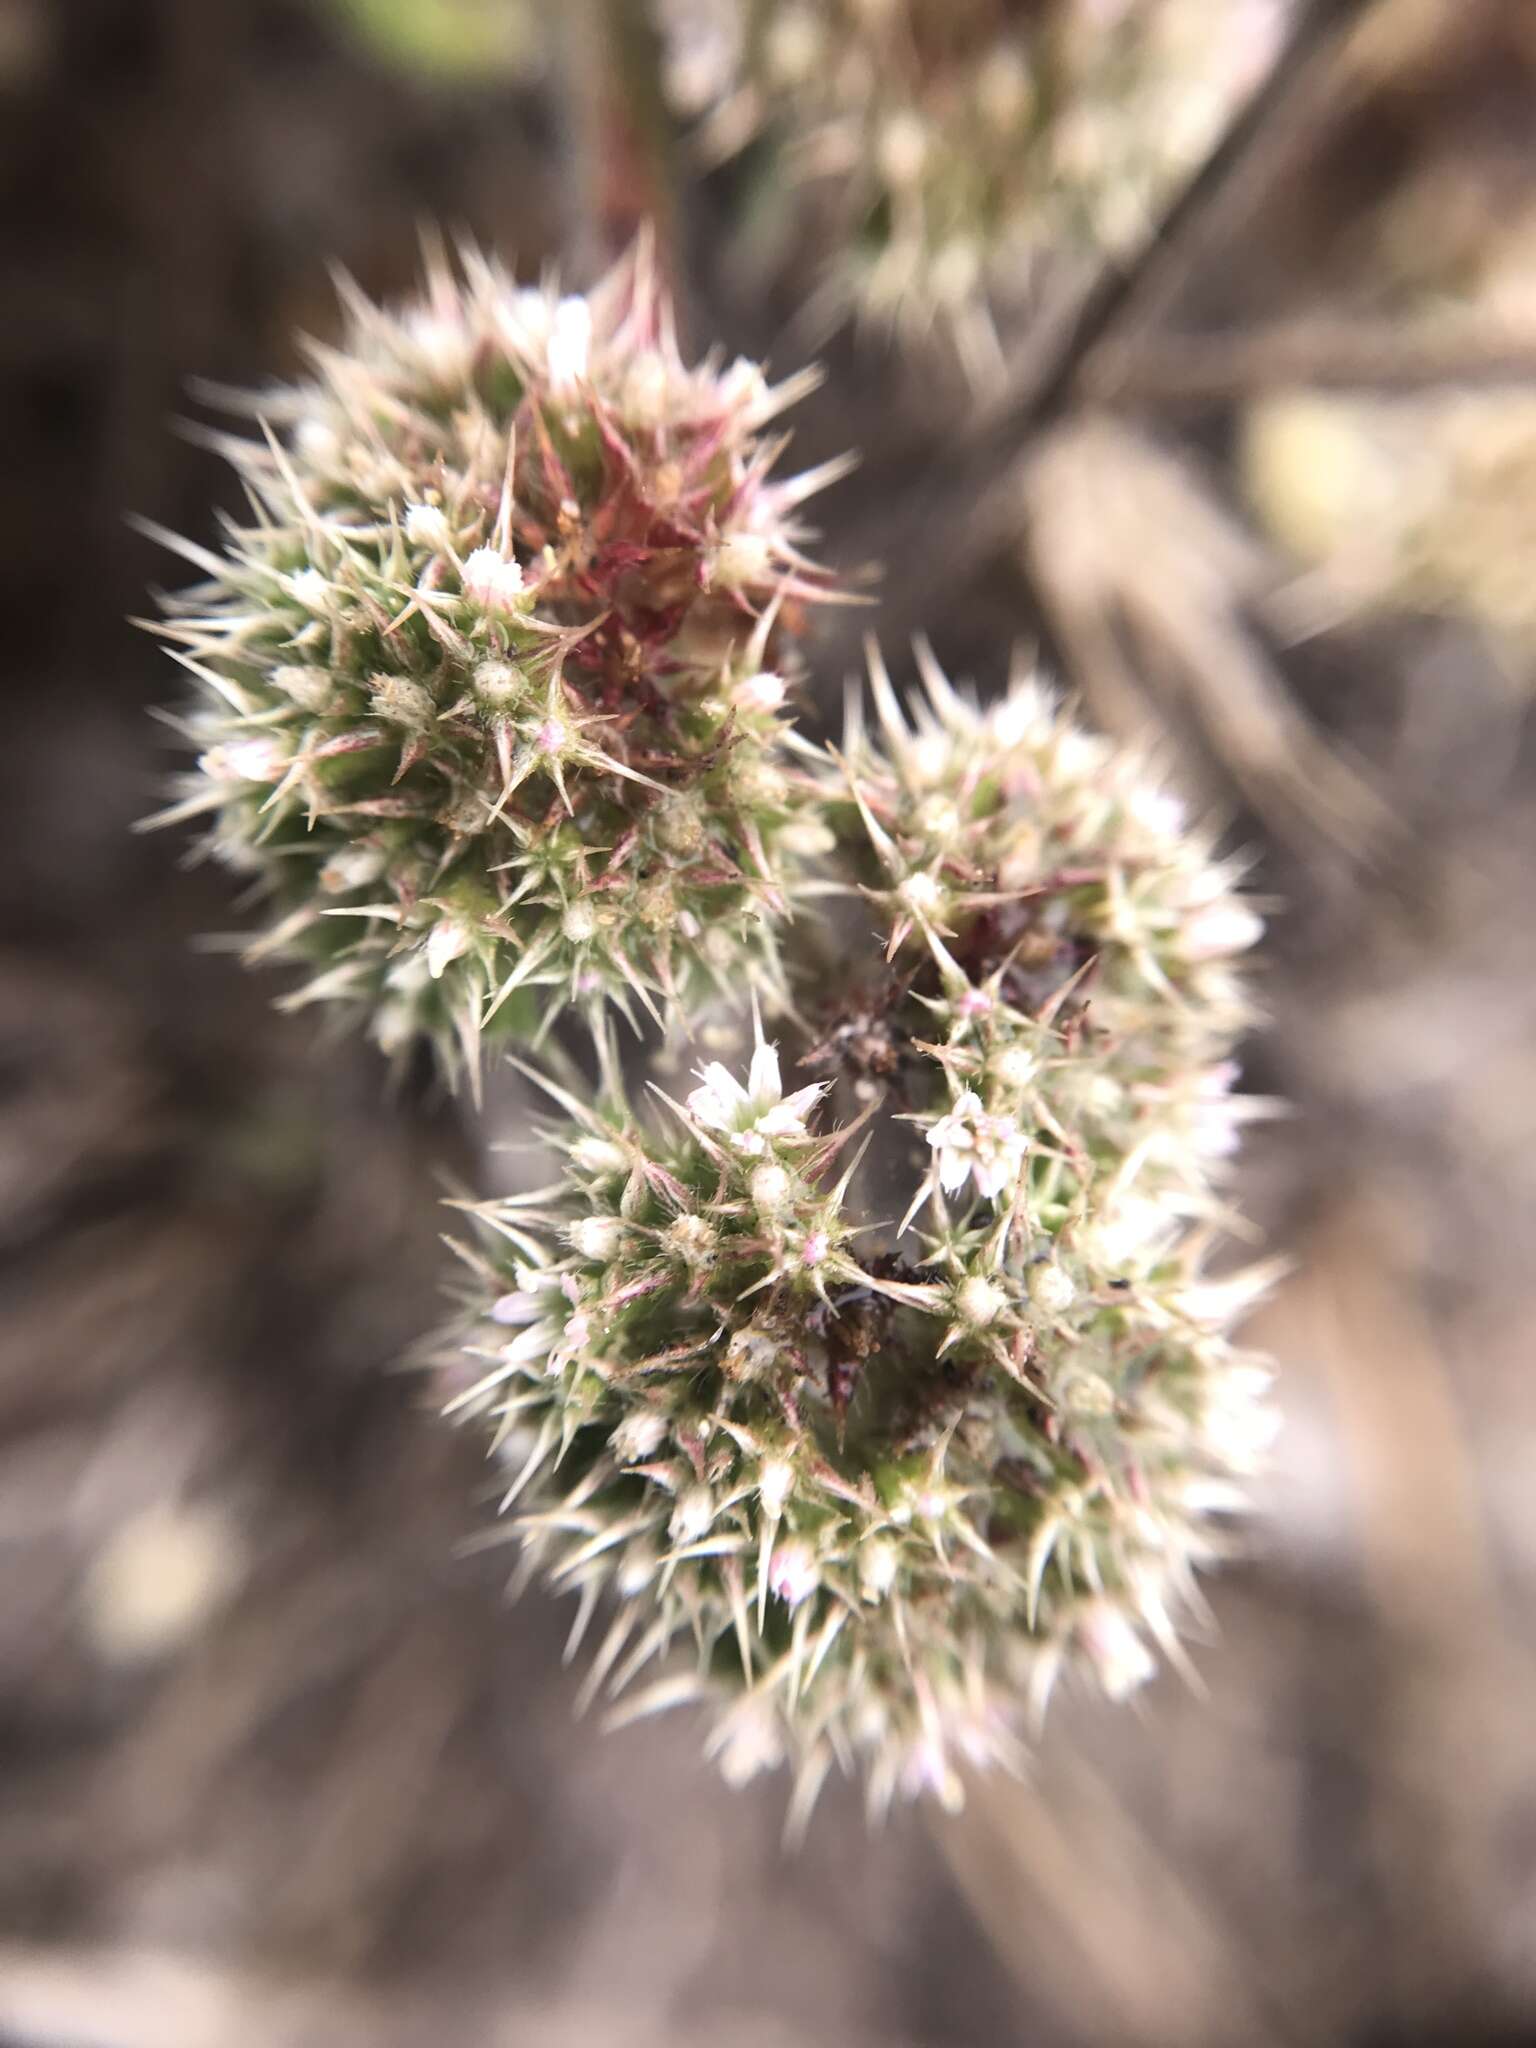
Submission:
<svg viewBox="0 0 1536 2048">
<path fill-rule="evenodd" d="M 965 340 L 1044 264 L 1149 231 L 1272 61 L 1288 0 L 657 8 L 670 96 L 707 145 L 780 152 L 827 307 Z"/>
</svg>

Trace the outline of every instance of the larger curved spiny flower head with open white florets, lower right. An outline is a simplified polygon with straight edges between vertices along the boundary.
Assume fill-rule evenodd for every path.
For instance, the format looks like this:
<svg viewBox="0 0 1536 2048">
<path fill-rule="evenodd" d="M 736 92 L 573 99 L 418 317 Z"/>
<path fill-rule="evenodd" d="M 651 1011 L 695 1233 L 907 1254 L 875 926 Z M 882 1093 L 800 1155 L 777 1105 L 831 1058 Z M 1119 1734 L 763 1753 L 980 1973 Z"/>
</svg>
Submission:
<svg viewBox="0 0 1536 2048">
<path fill-rule="evenodd" d="M 563 1094 L 440 1352 L 530 1567 L 578 1634 L 608 1604 L 590 1690 L 709 1702 L 799 1812 L 831 1765 L 952 1802 L 1063 1667 L 1143 1683 L 1270 1430 L 1229 1337 L 1266 1274 L 1202 1270 L 1257 918 L 1036 682 L 983 713 L 926 670 L 817 772 L 850 922 L 840 975 L 791 954 L 811 1079 L 756 1024 L 655 1116 L 612 1061 Z"/>
</svg>

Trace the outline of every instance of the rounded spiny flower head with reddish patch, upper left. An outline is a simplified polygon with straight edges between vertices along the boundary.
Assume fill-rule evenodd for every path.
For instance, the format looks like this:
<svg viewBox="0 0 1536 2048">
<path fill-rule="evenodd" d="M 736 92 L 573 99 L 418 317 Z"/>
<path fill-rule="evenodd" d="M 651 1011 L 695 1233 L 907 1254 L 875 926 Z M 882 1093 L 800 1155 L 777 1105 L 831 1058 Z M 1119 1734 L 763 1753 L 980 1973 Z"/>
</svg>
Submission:
<svg viewBox="0 0 1536 2048">
<path fill-rule="evenodd" d="M 817 842 L 780 709 L 825 471 L 774 481 L 764 434 L 805 379 L 684 365 L 645 244 L 590 297 L 469 254 L 348 315 L 225 442 L 250 520 L 182 545 L 201 758 L 164 817 L 258 881 L 295 1001 L 451 1067 L 563 1004 L 770 991 Z"/>
</svg>

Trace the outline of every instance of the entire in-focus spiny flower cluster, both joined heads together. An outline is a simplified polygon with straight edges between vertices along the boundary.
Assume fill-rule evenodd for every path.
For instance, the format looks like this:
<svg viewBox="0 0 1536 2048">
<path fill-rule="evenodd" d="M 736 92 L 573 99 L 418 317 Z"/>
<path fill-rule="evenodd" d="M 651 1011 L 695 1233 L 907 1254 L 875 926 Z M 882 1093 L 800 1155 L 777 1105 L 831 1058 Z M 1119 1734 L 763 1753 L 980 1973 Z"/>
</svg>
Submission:
<svg viewBox="0 0 1536 2048">
<path fill-rule="evenodd" d="M 1268 1270 L 1206 1270 L 1260 920 L 1032 674 L 981 709 L 920 649 L 903 711 L 872 651 L 872 723 L 795 733 L 805 379 L 688 367 L 645 242 L 588 297 L 469 252 L 346 303 L 223 442 L 248 516 L 182 545 L 166 817 L 389 1049 L 588 1026 L 430 1346 L 588 1696 L 702 1704 L 797 1825 L 834 1767 L 954 1804 L 1061 1673 L 1180 1657 L 1264 1450 Z M 643 1085 L 641 1012 L 721 1057 Z"/>
</svg>

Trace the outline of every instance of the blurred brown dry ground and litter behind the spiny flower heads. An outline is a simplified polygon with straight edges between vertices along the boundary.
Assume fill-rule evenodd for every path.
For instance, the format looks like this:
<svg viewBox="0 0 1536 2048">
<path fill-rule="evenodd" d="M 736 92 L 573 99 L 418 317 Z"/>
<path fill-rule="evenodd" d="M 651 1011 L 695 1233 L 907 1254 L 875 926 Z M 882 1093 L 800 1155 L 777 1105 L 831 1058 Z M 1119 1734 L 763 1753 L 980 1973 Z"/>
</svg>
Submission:
<svg viewBox="0 0 1536 2048">
<path fill-rule="evenodd" d="M 836 219 L 682 104 L 721 10 L 0 0 L 0 2042 L 1536 2040 L 1536 8 L 1272 10 L 1233 145 L 981 358 L 807 315 Z M 231 502 L 193 381 L 295 373 L 424 221 L 584 283 L 643 215 L 688 344 L 819 352 L 797 457 L 864 453 L 827 719 L 864 625 L 981 688 L 1032 641 L 1276 905 L 1286 1432 L 1200 1692 L 793 1858 L 684 1716 L 571 1720 L 395 1370 L 481 1133 L 131 831 L 180 573 L 127 514 Z"/>
</svg>

